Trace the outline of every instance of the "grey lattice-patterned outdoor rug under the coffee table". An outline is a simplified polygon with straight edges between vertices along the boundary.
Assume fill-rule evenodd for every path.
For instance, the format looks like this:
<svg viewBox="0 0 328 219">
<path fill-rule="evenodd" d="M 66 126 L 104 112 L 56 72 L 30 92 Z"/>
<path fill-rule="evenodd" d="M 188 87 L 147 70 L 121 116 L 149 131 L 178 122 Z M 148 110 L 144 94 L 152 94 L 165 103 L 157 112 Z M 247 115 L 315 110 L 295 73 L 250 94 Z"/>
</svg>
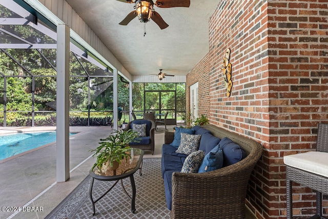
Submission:
<svg viewBox="0 0 328 219">
<path fill-rule="evenodd" d="M 141 172 L 141 176 L 139 171 L 134 173 L 135 214 L 131 212 L 130 199 L 118 183 L 95 204 L 96 215 L 92 216 L 92 204 L 89 197 L 91 177 L 87 176 L 46 218 L 170 218 L 160 174 L 160 158 L 144 158 Z M 128 193 L 132 194 L 130 178 L 125 178 L 123 182 Z M 102 195 L 114 183 L 95 180 L 94 199 Z"/>
</svg>

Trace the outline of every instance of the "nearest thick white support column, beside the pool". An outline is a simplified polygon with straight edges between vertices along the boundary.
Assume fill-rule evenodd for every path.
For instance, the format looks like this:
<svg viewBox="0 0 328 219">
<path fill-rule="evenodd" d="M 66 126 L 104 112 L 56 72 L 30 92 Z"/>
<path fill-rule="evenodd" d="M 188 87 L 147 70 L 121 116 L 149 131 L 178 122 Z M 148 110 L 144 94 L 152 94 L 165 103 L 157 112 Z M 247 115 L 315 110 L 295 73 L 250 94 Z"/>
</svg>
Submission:
<svg viewBox="0 0 328 219">
<path fill-rule="evenodd" d="M 57 26 L 57 97 L 56 97 L 56 180 L 65 182 L 70 177 L 69 154 L 69 60 L 70 28 Z"/>
</svg>

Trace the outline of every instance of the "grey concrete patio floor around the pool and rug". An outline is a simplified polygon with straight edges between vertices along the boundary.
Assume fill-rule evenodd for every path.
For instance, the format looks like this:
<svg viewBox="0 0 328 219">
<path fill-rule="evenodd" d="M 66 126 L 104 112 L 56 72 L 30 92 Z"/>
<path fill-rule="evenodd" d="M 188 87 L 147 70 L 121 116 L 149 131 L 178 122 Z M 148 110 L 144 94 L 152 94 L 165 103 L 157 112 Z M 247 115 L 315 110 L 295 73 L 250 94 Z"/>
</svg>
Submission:
<svg viewBox="0 0 328 219">
<path fill-rule="evenodd" d="M 173 131 L 174 126 L 168 126 Z M 26 131 L 55 130 L 55 127 L 6 127 L 0 134 Z M 110 127 L 70 127 L 70 178 L 56 183 L 56 144 L 48 144 L 14 158 L 0 161 L 1 207 L 34 207 L 33 212 L 4 209 L 0 218 L 45 218 L 73 189 L 84 180 L 95 162 L 89 151 L 95 149 L 100 138 L 107 137 Z M 155 151 L 145 151 L 144 158 L 161 157 L 164 126 L 155 131 Z M 9 210 L 9 211 L 7 211 Z M 255 218 L 248 212 L 247 218 Z"/>
</svg>

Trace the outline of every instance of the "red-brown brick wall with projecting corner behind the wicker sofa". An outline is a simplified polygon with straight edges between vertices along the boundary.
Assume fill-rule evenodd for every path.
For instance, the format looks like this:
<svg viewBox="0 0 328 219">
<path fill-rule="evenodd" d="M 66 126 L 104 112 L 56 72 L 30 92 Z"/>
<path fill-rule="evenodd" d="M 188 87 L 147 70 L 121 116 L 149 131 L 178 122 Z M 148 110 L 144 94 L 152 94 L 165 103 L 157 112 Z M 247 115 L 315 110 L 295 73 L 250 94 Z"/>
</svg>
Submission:
<svg viewBox="0 0 328 219">
<path fill-rule="evenodd" d="M 328 123 L 327 4 L 219 1 L 209 21 L 209 53 L 187 75 L 188 107 L 189 86 L 198 81 L 200 114 L 263 145 L 247 196 L 258 218 L 285 218 L 283 156 L 314 150 L 317 124 Z M 220 69 L 227 48 L 230 97 Z M 313 191 L 294 188 L 294 215 L 309 217 Z M 323 205 L 328 213 L 326 198 Z"/>
</svg>

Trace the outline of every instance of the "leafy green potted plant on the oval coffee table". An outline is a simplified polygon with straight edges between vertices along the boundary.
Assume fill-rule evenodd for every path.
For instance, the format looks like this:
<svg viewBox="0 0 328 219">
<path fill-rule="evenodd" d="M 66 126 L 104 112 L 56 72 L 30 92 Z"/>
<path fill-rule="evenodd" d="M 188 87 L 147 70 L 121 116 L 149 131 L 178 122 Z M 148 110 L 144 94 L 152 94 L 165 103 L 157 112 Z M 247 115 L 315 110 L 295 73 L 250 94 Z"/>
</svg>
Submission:
<svg viewBox="0 0 328 219">
<path fill-rule="evenodd" d="M 97 161 L 92 169 L 97 166 L 101 170 L 103 165 L 112 170 L 117 169 L 121 160 L 131 158 L 131 155 L 127 153 L 131 148 L 127 145 L 134 141 L 136 137 L 138 137 L 138 134 L 129 129 L 128 131 L 115 130 L 113 135 L 100 139 L 99 146 L 94 150 L 90 150 L 95 152 L 93 156 L 97 156 Z"/>
</svg>

